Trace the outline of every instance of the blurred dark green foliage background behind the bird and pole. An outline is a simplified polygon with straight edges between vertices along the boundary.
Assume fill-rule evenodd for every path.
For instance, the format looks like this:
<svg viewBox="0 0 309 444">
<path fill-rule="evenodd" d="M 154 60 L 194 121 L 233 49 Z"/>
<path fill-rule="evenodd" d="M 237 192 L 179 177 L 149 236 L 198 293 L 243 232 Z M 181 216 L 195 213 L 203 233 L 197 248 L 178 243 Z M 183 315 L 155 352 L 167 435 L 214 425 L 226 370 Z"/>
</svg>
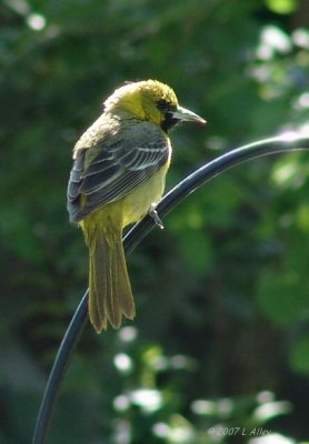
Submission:
<svg viewBox="0 0 309 444">
<path fill-rule="evenodd" d="M 306 0 L 2 0 L 1 444 L 30 442 L 87 286 L 66 186 L 103 99 L 153 78 L 208 120 L 171 133 L 170 189 L 226 150 L 308 132 L 308 21 Z M 51 444 L 309 440 L 308 172 L 306 152 L 251 161 L 151 232 L 128 261 L 137 319 L 87 327 Z"/>
</svg>

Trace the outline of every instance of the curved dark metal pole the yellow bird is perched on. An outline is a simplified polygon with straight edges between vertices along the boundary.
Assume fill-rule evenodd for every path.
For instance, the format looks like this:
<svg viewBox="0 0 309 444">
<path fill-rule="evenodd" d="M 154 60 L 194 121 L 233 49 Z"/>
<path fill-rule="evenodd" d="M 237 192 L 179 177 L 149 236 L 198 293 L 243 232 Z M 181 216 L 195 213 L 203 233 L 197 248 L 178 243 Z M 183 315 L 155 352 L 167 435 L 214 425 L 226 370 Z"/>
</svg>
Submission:
<svg viewBox="0 0 309 444">
<path fill-rule="evenodd" d="M 157 211 L 160 214 L 160 218 L 163 218 L 178 203 L 180 203 L 185 198 L 196 191 L 203 183 L 213 179 L 221 172 L 227 171 L 245 161 L 263 155 L 297 150 L 309 150 L 309 135 L 282 135 L 272 139 L 265 139 L 262 141 L 231 150 L 226 154 L 222 154 L 217 159 L 206 163 L 192 174 L 188 175 L 178 185 L 176 185 L 160 201 L 159 205 L 157 206 Z M 139 223 L 137 223 L 123 240 L 126 253 L 129 254 L 151 231 L 152 228 L 153 221 L 149 215 L 146 215 Z M 47 442 L 47 434 L 51 424 L 52 413 L 60 392 L 61 382 L 87 320 L 88 290 L 86 291 L 76 310 L 76 313 L 68 326 L 58 354 L 54 359 L 38 414 L 32 444 L 44 444 Z"/>
</svg>

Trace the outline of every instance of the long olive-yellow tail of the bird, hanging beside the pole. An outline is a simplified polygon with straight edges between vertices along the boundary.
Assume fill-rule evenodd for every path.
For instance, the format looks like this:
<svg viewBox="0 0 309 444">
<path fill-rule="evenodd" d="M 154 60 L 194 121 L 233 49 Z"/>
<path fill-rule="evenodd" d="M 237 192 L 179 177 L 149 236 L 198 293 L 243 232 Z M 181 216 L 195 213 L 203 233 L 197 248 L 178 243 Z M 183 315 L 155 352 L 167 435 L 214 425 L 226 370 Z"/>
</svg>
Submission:
<svg viewBox="0 0 309 444">
<path fill-rule="evenodd" d="M 136 315 L 122 232 L 84 230 L 84 234 L 89 245 L 90 321 L 98 333 L 107 329 L 108 321 L 119 329 L 122 314 L 130 320 Z"/>
</svg>

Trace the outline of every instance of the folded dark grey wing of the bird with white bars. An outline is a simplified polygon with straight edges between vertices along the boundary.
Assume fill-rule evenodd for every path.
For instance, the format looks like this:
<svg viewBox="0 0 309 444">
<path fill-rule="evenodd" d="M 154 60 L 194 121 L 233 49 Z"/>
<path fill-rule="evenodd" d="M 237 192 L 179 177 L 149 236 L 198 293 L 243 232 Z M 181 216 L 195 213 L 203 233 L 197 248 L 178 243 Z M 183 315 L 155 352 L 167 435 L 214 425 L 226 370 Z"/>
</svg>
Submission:
<svg viewBox="0 0 309 444">
<path fill-rule="evenodd" d="M 168 138 L 149 122 L 137 123 L 117 137 L 79 150 L 68 186 L 71 221 L 127 195 L 168 161 L 169 152 Z"/>
</svg>

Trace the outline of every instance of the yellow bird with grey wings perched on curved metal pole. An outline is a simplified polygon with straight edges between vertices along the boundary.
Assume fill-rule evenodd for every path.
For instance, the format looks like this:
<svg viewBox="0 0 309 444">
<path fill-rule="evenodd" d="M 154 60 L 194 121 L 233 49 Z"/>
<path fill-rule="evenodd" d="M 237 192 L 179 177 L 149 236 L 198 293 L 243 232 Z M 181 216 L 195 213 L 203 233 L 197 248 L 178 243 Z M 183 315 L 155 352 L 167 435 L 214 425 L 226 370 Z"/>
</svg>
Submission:
<svg viewBox="0 0 309 444">
<path fill-rule="evenodd" d="M 156 206 L 172 153 L 168 132 L 183 121 L 206 123 L 169 85 L 127 82 L 73 148 L 67 206 L 89 248 L 88 311 L 97 333 L 136 315 L 122 231 L 147 213 L 162 228 Z"/>
</svg>

